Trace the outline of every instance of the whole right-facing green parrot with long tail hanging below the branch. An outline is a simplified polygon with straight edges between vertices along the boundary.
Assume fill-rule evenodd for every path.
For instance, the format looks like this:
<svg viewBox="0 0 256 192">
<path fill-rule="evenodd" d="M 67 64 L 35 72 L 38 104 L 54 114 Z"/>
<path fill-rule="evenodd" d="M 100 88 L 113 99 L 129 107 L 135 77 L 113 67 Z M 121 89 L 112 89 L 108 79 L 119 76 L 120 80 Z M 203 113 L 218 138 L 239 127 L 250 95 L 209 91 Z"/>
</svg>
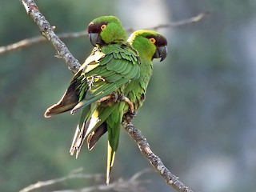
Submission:
<svg viewBox="0 0 256 192">
<path fill-rule="evenodd" d="M 138 108 L 142 106 L 146 96 L 146 88 L 153 72 L 153 59 L 161 58 L 160 62 L 162 62 L 167 54 L 166 38 L 151 30 L 135 31 L 130 35 L 128 43 L 138 51 L 141 61 L 140 76 L 126 85 L 126 88 L 122 92 L 125 99 L 122 99 L 121 102 L 111 104 L 111 108 L 115 108 L 116 110 L 113 110 L 110 116 L 106 118 L 105 122 L 94 129 L 87 138 L 88 147 L 90 149 L 90 146 L 94 146 L 98 138 L 100 138 L 106 130 L 108 132 L 109 142 L 106 183 L 110 182 L 110 170 L 114 165 L 114 157 L 118 149 L 118 139 L 123 114 L 138 110 Z M 130 102 L 132 102 L 132 105 L 130 105 Z M 103 107 L 105 108 L 106 106 Z"/>
</svg>

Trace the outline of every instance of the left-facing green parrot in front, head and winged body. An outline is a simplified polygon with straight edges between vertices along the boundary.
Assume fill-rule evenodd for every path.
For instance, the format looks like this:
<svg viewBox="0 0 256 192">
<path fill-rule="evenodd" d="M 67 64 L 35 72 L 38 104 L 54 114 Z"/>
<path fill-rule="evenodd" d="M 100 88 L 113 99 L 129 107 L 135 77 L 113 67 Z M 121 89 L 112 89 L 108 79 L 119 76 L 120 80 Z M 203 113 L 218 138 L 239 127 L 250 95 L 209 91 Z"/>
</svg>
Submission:
<svg viewBox="0 0 256 192">
<path fill-rule="evenodd" d="M 46 110 L 46 118 L 69 110 L 74 114 L 82 106 L 90 105 L 118 90 L 130 79 L 138 78 L 138 54 L 127 45 L 126 31 L 118 18 L 95 18 L 87 30 L 90 42 L 96 47 L 74 74 L 61 100 Z"/>
</svg>

